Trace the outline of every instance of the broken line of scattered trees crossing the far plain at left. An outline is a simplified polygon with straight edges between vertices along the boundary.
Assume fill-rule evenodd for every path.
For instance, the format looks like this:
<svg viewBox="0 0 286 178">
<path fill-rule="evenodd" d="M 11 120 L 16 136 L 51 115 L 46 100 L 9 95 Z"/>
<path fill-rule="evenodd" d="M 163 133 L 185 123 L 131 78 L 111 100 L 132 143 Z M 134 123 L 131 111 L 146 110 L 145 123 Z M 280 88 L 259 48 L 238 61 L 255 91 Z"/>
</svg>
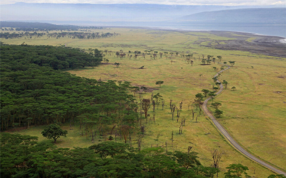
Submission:
<svg viewBox="0 0 286 178">
<path fill-rule="evenodd" d="M 112 36 L 117 36 L 119 35 L 118 33 L 88 33 L 88 32 L 54 32 L 54 33 L 49 33 L 48 31 L 46 33 L 29 33 L 29 32 L 22 32 L 22 33 L 10 33 L 10 32 L 1 32 L 0 33 L 0 38 L 5 38 L 5 39 L 13 39 L 13 38 L 25 38 L 25 39 L 31 39 L 31 38 L 39 38 L 46 35 L 46 37 L 49 38 L 61 38 L 61 37 L 68 37 L 72 39 L 99 39 L 99 38 L 109 38 Z"/>
</svg>

